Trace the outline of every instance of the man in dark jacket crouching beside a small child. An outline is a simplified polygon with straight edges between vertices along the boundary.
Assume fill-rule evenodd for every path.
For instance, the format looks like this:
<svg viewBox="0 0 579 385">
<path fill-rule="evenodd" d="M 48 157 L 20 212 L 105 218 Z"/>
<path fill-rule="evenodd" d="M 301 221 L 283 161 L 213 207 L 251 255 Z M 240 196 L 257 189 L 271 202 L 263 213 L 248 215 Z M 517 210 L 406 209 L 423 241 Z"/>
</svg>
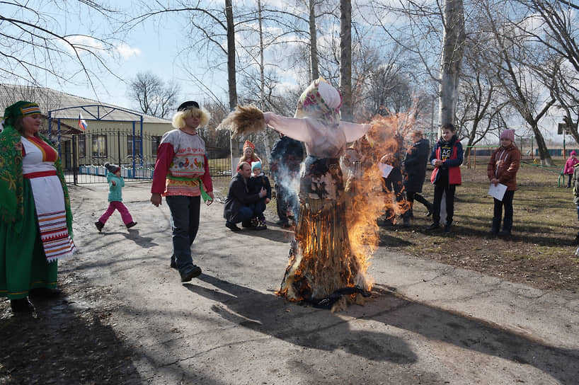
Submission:
<svg viewBox="0 0 579 385">
<path fill-rule="evenodd" d="M 267 191 L 262 187 L 259 193 L 250 194 L 247 186 L 250 176 L 251 166 L 243 161 L 239 163 L 237 175 L 231 178 L 229 183 L 223 217 L 226 220 L 225 226 L 231 231 L 241 230 L 236 225 L 239 222 L 243 227 L 251 227 L 251 218 L 258 217 L 265 211 L 265 201 L 261 198 L 267 195 Z"/>
</svg>

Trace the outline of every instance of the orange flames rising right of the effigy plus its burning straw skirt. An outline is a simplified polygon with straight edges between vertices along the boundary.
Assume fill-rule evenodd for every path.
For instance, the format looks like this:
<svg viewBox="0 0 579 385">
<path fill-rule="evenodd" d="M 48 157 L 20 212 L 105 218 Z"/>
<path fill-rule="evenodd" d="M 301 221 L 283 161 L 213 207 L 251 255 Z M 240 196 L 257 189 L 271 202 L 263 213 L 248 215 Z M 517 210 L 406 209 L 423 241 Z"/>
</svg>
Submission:
<svg viewBox="0 0 579 385">
<path fill-rule="evenodd" d="M 367 162 L 362 162 L 361 172 L 355 178 L 345 176 L 345 188 L 338 194 L 338 200 L 301 197 L 289 265 L 276 294 L 301 301 L 327 297 L 343 287 L 372 289 L 374 279 L 368 269 L 379 244 L 377 219 L 393 205 L 391 197 L 382 190 L 382 173 L 377 163 L 385 154 L 401 151 L 403 137 L 413 127 L 411 116 L 397 114 L 372 119 L 372 129 L 355 144 Z M 398 212 L 405 209 L 408 207 L 397 208 Z M 360 299 L 357 294 L 348 298 L 357 303 Z"/>
</svg>

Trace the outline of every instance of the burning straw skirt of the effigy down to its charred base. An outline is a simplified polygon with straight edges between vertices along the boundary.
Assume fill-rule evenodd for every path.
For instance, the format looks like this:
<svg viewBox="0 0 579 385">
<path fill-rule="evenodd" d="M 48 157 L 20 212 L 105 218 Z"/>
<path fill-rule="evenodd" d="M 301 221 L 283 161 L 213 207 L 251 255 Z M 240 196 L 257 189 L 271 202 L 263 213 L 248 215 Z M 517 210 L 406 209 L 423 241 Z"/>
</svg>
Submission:
<svg viewBox="0 0 579 385">
<path fill-rule="evenodd" d="M 302 201 L 296 238 L 278 294 L 332 311 L 363 304 L 372 289 L 365 260 L 352 253 L 344 200 Z M 329 306 L 328 306 L 329 305 Z"/>
</svg>

